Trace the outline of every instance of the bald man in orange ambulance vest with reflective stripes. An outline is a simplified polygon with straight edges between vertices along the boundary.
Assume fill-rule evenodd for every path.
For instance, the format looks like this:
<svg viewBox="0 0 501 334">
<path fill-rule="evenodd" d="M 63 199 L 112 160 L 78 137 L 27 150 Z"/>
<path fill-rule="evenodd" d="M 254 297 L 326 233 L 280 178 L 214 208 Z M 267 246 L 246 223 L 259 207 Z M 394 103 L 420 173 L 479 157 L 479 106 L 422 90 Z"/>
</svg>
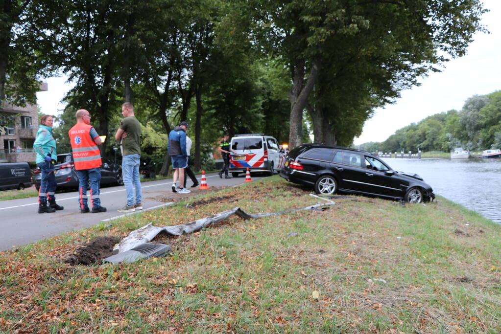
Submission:
<svg viewBox="0 0 501 334">
<path fill-rule="evenodd" d="M 80 212 L 90 211 L 87 205 L 87 182 L 90 182 L 90 199 L 92 213 L 104 212 L 106 207 L 101 206 L 100 182 L 101 182 L 101 152 L 98 145 L 102 140 L 96 129 L 90 124 L 91 115 L 85 109 L 77 110 L 77 123 L 68 131 L 73 161 L 78 175 L 78 193 Z"/>
</svg>

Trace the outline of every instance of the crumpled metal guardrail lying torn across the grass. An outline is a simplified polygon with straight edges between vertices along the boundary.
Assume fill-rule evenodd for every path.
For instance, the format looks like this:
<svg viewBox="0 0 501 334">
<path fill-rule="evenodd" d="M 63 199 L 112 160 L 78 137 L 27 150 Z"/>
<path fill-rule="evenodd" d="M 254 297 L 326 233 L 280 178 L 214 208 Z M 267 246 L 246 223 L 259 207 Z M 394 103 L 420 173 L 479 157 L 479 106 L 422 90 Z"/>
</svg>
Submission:
<svg viewBox="0 0 501 334">
<path fill-rule="evenodd" d="M 316 196 L 321 199 L 325 199 L 319 196 Z M 185 224 L 179 224 L 179 225 L 174 225 L 174 226 L 154 226 L 151 223 L 144 225 L 143 227 L 140 227 L 136 230 L 133 230 L 132 232 L 129 233 L 125 238 L 123 238 L 113 249 L 118 250 L 118 254 L 110 256 L 105 258 L 105 261 L 109 262 L 117 262 L 119 258 L 122 258 L 120 261 L 135 261 L 140 258 L 147 258 L 151 257 L 154 255 L 147 255 L 141 256 L 140 251 L 137 252 L 134 250 L 134 253 L 128 254 L 127 256 L 120 255 L 121 253 L 133 250 L 135 247 L 141 246 L 144 247 L 144 244 L 148 244 L 148 241 L 151 241 L 158 233 L 160 232 L 165 232 L 169 235 L 182 235 L 182 234 L 188 234 L 188 233 L 193 233 L 195 231 L 200 230 L 201 228 L 208 226 L 210 224 L 219 222 L 221 220 L 224 220 L 228 218 L 229 216 L 236 214 L 239 217 L 242 217 L 244 219 L 251 219 L 251 218 L 261 218 L 261 217 L 267 217 L 270 215 L 279 215 L 279 214 L 284 214 L 284 213 L 293 213 L 293 212 L 298 212 L 298 211 L 303 211 L 303 210 L 311 210 L 319 206 L 325 206 L 325 205 L 334 205 L 335 202 L 325 199 L 328 202 L 327 203 L 318 203 L 315 205 L 310 205 L 307 207 L 303 208 L 298 208 L 298 209 L 292 209 L 292 210 L 286 210 L 286 211 L 279 211 L 279 212 L 270 212 L 270 213 L 247 213 L 243 211 L 239 206 L 236 206 L 230 210 L 226 210 L 208 217 L 204 217 L 201 219 L 197 219 L 194 221 L 190 221 Z M 165 246 L 165 245 L 163 245 Z M 169 246 L 167 246 L 169 247 Z M 163 248 L 162 250 L 166 250 L 166 248 Z M 170 251 L 170 247 L 168 249 Z M 138 254 L 139 253 L 139 254 Z M 165 253 L 164 253 L 165 254 Z M 120 257 L 117 257 L 120 255 Z M 112 258 L 110 261 L 109 259 Z"/>
</svg>

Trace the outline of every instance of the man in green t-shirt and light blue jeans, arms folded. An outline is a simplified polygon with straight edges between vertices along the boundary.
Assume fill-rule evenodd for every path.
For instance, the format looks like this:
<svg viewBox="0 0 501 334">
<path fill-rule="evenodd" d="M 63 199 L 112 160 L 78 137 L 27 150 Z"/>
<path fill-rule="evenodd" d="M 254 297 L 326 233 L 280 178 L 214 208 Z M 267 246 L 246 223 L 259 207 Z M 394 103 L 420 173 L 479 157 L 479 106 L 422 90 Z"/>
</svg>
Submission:
<svg viewBox="0 0 501 334">
<path fill-rule="evenodd" d="M 118 212 L 132 212 L 143 208 L 141 203 L 141 181 L 139 179 L 141 123 L 134 116 L 134 106 L 130 102 L 122 104 L 122 115 L 124 118 L 120 122 L 115 139 L 120 141 L 122 145 L 122 176 L 125 191 L 127 192 L 127 204 L 119 208 Z M 136 190 L 135 200 L 134 188 Z"/>
</svg>

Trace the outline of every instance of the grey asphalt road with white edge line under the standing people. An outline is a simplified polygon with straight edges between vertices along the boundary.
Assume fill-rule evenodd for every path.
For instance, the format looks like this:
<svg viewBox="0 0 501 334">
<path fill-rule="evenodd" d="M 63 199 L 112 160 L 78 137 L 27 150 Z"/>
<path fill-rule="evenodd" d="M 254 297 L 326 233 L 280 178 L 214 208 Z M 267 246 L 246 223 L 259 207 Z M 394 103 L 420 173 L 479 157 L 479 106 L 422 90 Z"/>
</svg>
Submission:
<svg viewBox="0 0 501 334">
<path fill-rule="evenodd" d="M 200 181 L 201 176 L 198 176 Z M 230 179 L 219 178 L 217 173 L 206 175 L 209 187 L 236 186 L 241 184 L 245 175 Z M 262 175 L 253 174 L 252 179 L 258 180 Z M 180 196 L 199 194 L 203 191 L 198 187 L 189 188 L 191 180 L 186 182 L 190 194 L 180 195 L 172 192 L 172 179 L 142 182 L 143 210 L 153 209 L 165 205 Z M 100 213 L 80 213 L 78 207 L 78 192 L 64 192 L 56 194 L 59 205 L 64 206 L 64 210 L 54 213 L 38 213 L 37 197 L 12 199 L 0 201 L 0 251 L 12 249 L 13 247 L 29 244 L 50 236 L 63 232 L 78 230 L 84 227 L 98 224 L 100 221 L 123 215 L 124 212 L 117 212 L 117 209 L 125 205 L 125 187 L 113 186 L 101 188 L 101 203 L 107 208 L 106 212 Z"/>
</svg>

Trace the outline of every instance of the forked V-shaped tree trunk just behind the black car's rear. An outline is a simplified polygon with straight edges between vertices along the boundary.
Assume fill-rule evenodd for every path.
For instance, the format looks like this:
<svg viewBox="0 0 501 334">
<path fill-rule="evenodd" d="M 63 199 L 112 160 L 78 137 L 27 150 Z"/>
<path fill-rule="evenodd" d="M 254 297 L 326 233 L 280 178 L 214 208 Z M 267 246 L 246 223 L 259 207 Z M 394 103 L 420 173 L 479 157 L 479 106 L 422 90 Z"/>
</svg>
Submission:
<svg viewBox="0 0 501 334">
<path fill-rule="evenodd" d="M 310 69 L 310 75 L 304 84 L 305 60 L 298 59 L 294 65 L 293 87 L 290 94 L 291 117 L 289 125 L 289 146 L 294 148 L 301 144 L 303 132 L 303 110 L 308 97 L 315 86 L 320 70 L 320 60 L 315 60 Z"/>
</svg>

